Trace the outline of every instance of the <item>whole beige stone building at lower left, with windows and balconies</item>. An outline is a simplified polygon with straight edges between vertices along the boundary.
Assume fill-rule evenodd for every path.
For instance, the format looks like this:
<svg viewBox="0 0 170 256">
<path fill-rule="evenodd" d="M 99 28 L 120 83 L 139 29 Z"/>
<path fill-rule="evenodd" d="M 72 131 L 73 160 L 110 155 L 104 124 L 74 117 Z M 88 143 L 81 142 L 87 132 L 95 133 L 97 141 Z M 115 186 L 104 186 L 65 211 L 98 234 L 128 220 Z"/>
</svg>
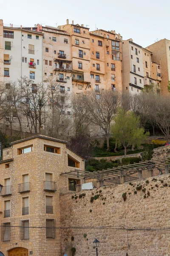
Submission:
<svg viewBox="0 0 170 256">
<path fill-rule="evenodd" d="M 84 160 L 65 141 L 43 135 L 11 144 L 0 162 L 0 255 L 60 256 L 60 191 L 82 182 L 61 173 L 84 170 Z"/>
</svg>

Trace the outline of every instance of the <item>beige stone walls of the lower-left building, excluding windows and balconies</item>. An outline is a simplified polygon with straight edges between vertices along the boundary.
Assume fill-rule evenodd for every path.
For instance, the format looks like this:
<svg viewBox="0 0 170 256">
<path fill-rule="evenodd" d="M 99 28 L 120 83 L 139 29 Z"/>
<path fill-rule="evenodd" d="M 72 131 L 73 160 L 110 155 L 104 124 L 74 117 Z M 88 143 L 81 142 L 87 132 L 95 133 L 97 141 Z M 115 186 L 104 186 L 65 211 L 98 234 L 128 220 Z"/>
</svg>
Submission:
<svg viewBox="0 0 170 256">
<path fill-rule="evenodd" d="M 30 153 L 18 155 L 18 148 L 33 145 L 34 150 Z M 51 145 L 60 148 L 60 154 L 44 151 L 44 145 Z M 4 150 L 4 159 L 6 152 Z M 13 247 L 25 247 L 28 251 L 33 251 L 33 255 L 60 256 L 60 232 L 56 230 L 56 239 L 46 239 L 46 219 L 55 219 L 56 227 L 60 227 L 60 189 L 68 189 L 68 176 L 61 176 L 62 172 L 68 172 L 75 168 L 68 166 L 68 154 L 80 162 L 80 169 L 84 170 L 84 160 L 74 152 L 66 148 L 65 143 L 59 143 L 42 138 L 34 138 L 13 145 L 14 160 L 10 162 L 10 167 L 5 169 L 5 163 L 0 164 L 0 181 L 5 186 L 5 179 L 11 178 L 11 195 L 0 197 L 1 224 L 10 222 L 11 240 L 1 242 L 1 251 L 8 256 L 8 250 Z M 3 159 L 3 160 L 4 160 Z M 57 192 L 44 190 L 45 173 L 52 174 L 52 180 L 57 182 Z M 23 183 L 22 175 L 29 175 L 30 192 L 18 193 L 18 184 Z M 71 177 L 71 176 L 70 176 Z M 53 214 L 45 211 L 45 195 L 53 196 Z M 29 214 L 22 215 L 22 198 L 29 197 Z M 3 218 L 4 201 L 11 201 L 11 217 Z M 29 219 L 30 228 L 29 240 L 20 240 L 20 221 Z M 15 244 L 17 243 L 17 244 Z"/>
</svg>

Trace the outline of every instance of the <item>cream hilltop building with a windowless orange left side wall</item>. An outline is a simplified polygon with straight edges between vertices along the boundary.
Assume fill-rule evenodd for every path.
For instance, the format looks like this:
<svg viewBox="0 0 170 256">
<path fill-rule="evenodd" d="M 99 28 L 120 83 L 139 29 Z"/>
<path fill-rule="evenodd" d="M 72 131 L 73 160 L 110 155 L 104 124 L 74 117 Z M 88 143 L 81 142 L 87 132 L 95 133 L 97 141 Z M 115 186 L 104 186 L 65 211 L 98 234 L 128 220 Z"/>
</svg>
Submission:
<svg viewBox="0 0 170 256">
<path fill-rule="evenodd" d="M 130 38 L 122 43 L 123 52 L 123 91 L 130 94 L 141 92 L 144 88 L 144 69 L 142 46 Z"/>
</svg>

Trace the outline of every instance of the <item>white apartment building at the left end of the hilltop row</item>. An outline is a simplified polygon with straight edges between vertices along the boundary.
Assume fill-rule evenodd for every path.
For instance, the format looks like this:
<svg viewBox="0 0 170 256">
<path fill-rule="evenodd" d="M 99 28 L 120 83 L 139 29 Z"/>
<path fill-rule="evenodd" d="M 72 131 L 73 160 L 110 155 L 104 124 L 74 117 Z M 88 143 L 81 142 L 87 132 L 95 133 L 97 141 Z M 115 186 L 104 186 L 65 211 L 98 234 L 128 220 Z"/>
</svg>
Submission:
<svg viewBox="0 0 170 256">
<path fill-rule="evenodd" d="M 34 28 L 3 26 L 1 22 L 0 77 L 6 84 L 24 76 L 42 82 L 42 33 Z M 3 31 L 2 31 L 3 29 Z M 3 32 L 3 42 L 2 42 Z"/>
</svg>

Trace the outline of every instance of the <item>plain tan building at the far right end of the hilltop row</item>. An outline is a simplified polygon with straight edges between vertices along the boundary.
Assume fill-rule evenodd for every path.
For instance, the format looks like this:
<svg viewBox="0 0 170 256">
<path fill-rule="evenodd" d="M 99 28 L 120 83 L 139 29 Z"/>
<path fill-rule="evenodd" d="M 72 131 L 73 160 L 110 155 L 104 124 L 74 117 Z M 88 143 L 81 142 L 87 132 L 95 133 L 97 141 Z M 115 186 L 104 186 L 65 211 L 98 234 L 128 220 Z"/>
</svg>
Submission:
<svg viewBox="0 0 170 256">
<path fill-rule="evenodd" d="M 167 95 L 170 86 L 170 40 L 161 39 L 146 49 L 153 52 L 152 60 L 157 63 L 157 65 L 153 65 L 153 75 L 161 83 L 161 94 Z"/>
</svg>

